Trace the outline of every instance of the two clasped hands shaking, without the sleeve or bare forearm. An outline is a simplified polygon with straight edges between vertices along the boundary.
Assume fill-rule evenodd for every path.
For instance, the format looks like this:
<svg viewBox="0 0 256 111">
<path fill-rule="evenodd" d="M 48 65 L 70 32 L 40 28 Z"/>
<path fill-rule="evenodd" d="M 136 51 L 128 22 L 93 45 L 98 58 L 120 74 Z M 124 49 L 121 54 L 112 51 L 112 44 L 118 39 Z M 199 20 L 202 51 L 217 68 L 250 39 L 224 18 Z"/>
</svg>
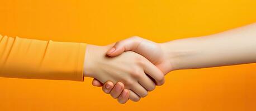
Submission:
<svg viewBox="0 0 256 111">
<path fill-rule="evenodd" d="M 155 85 L 164 84 L 164 75 L 173 70 L 163 44 L 131 37 L 108 46 L 87 45 L 84 76 L 95 78 L 118 102 L 139 101 Z M 115 87 L 113 84 L 116 84 Z"/>
</svg>

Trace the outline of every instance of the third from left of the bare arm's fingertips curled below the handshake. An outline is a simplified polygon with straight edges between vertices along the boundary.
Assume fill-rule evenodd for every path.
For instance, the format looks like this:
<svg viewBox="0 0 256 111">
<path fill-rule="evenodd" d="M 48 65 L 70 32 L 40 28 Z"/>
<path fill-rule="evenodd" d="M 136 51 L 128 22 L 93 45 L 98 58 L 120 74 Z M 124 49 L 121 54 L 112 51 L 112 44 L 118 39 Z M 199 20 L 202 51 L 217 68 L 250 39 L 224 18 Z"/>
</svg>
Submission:
<svg viewBox="0 0 256 111">
<path fill-rule="evenodd" d="M 122 90 L 124 90 L 125 85 L 121 82 L 116 83 L 115 87 L 111 90 L 110 95 L 113 98 L 118 98 L 119 95 L 122 93 Z"/>
</svg>

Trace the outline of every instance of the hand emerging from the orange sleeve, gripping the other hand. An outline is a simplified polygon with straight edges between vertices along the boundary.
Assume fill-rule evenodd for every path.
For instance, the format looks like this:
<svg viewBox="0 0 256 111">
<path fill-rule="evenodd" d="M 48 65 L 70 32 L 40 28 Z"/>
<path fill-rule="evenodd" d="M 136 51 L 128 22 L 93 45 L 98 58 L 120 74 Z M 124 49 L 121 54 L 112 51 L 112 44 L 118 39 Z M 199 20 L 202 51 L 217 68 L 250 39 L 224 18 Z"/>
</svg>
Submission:
<svg viewBox="0 0 256 111">
<path fill-rule="evenodd" d="M 115 58 L 106 56 L 107 50 L 112 46 L 87 45 L 84 60 L 85 77 L 96 78 L 101 83 L 111 81 L 116 84 L 119 82 L 117 83 L 119 85 L 113 89 L 124 90 L 125 88 L 124 97 L 129 97 L 135 102 L 141 97 L 146 97 L 148 91 L 155 89 L 156 84 L 164 83 L 161 70 L 138 53 L 128 51 Z M 121 94 L 114 90 L 107 93 L 110 93 L 113 98 L 118 98 Z"/>
</svg>

